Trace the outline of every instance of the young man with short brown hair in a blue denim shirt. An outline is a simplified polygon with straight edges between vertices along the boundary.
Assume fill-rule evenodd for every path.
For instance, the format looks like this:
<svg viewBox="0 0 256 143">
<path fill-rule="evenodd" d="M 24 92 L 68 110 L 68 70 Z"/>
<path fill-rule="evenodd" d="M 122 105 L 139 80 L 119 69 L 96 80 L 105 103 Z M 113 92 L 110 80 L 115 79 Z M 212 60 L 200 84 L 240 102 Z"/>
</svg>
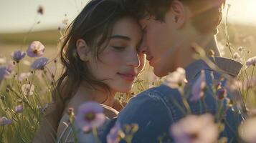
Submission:
<svg viewBox="0 0 256 143">
<path fill-rule="evenodd" d="M 195 84 L 202 70 L 207 86 L 212 86 L 215 79 L 220 80 L 223 73 L 214 71 L 203 60 L 194 59 L 191 44 L 204 47 L 206 53 L 212 49 L 219 54 L 217 46 L 209 45 L 212 45 L 217 25 L 222 19 L 224 0 L 126 0 L 125 5 L 138 16 L 143 27 L 141 52 L 146 54 L 156 76 L 166 76 L 182 67 L 186 70 L 188 85 Z M 222 57 L 215 57 L 212 61 L 233 77 L 242 67 L 239 62 Z M 216 114 L 219 107 L 213 96 L 211 92 L 204 93 L 207 108 L 202 107 L 201 100 L 191 102 L 189 97 L 191 114 Z M 232 95 L 228 93 L 227 97 L 232 98 Z M 166 85 L 148 89 L 130 100 L 116 122 L 138 124 L 133 142 L 158 142 L 159 137 L 163 137 L 163 142 L 172 142 L 170 126 L 185 117 L 177 103 L 185 107 L 177 89 Z M 242 114 L 235 107 L 225 109 L 225 128 L 220 137 L 227 137 L 229 142 L 238 142 L 237 126 L 242 121 Z"/>
</svg>

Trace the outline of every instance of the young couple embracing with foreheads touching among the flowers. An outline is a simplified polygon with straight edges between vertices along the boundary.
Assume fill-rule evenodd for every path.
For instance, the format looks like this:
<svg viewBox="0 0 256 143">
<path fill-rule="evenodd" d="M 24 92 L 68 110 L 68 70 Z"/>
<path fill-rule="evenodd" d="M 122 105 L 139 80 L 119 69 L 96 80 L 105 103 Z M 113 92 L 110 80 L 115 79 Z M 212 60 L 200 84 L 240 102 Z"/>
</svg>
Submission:
<svg viewBox="0 0 256 143">
<path fill-rule="evenodd" d="M 138 124 L 132 142 L 192 142 L 198 134 L 177 139 L 170 127 L 188 114 L 206 113 L 221 117 L 215 119 L 224 126 L 219 139 L 240 142 L 237 127 L 245 119 L 244 105 L 234 91 L 224 88 L 227 79 L 237 77 L 242 64 L 220 57 L 214 39 L 224 3 L 225 0 L 88 2 L 68 27 L 60 51 L 65 72 L 58 80 L 53 103 L 34 142 L 52 142 L 49 137 L 54 137 L 53 132 L 57 132 L 57 139 L 64 136 L 65 141 L 75 142 L 70 134 L 62 134 L 67 129 L 62 123 L 68 122 L 65 111 L 72 107 L 76 113 L 80 104 L 90 101 L 100 103 L 108 118 L 99 129 L 101 142 L 110 142 L 107 134 L 116 124 Z M 195 55 L 202 59 L 195 59 Z M 168 79 L 165 84 L 136 95 L 123 107 L 116 102 L 115 93 L 131 90 L 145 58 L 156 76 Z M 203 88 L 215 84 L 220 89 L 217 92 L 239 105 L 229 107 L 228 101 L 219 102 L 210 88 Z M 219 112 L 219 107 L 224 112 Z M 47 124 L 52 128 L 45 128 Z M 42 137 L 45 133 L 46 137 Z M 77 135 L 78 142 L 95 142 L 92 134 Z"/>
</svg>

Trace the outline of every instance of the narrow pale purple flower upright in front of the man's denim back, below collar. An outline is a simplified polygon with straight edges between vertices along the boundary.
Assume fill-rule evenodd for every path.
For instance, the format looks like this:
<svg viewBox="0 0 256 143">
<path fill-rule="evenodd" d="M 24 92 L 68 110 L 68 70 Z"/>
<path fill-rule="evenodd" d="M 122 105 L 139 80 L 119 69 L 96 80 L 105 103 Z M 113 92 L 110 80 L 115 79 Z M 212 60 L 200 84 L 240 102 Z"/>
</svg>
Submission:
<svg viewBox="0 0 256 143">
<path fill-rule="evenodd" d="M 192 87 L 192 95 L 190 98 L 190 101 L 196 101 L 204 96 L 204 89 L 207 86 L 207 83 L 205 82 L 205 74 L 204 70 L 201 71 L 200 77 L 196 80 Z"/>
</svg>

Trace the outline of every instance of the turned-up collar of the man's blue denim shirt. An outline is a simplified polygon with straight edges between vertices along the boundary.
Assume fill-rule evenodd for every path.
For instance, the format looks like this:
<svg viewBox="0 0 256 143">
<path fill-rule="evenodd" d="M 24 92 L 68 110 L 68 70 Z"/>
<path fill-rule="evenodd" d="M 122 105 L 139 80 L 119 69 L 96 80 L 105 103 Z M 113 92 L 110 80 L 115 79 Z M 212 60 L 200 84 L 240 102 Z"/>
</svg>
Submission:
<svg viewBox="0 0 256 143">
<path fill-rule="evenodd" d="M 216 66 L 219 67 L 219 69 L 222 69 L 226 72 L 226 74 L 229 74 L 232 77 L 237 77 L 242 68 L 242 64 L 239 61 L 234 61 L 224 57 L 216 56 L 214 59 L 212 58 L 212 61 Z M 196 75 L 199 74 L 202 69 L 209 69 L 213 71 L 213 69 L 211 69 L 202 59 L 194 61 L 193 63 L 189 64 L 189 66 L 186 66 L 185 69 L 186 79 L 188 81 L 194 79 L 194 77 L 196 77 Z"/>
</svg>

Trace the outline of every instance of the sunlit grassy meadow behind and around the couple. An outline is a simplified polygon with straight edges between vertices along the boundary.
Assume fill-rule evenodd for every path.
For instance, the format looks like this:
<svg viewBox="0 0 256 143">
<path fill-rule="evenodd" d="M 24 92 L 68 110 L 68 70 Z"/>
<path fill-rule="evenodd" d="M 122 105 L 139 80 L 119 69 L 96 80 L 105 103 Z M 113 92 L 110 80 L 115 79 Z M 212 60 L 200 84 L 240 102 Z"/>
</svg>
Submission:
<svg viewBox="0 0 256 143">
<path fill-rule="evenodd" d="M 243 64 L 250 57 L 256 56 L 256 26 L 229 24 L 227 29 L 229 42 L 227 42 L 225 33 L 226 28 L 224 24 L 221 24 L 219 26 L 219 34 L 217 34 L 218 46 L 222 56 L 234 58 L 234 54 L 239 53 L 240 57 L 236 59 L 244 62 Z M 51 102 L 54 84 L 56 84 L 63 70 L 58 59 L 60 36 L 61 33 L 58 30 L 37 31 L 29 34 L 0 34 L 0 58 L 6 60 L 7 64 L 13 63 L 10 56 L 11 52 L 16 50 L 26 51 L 27 46 L 32 41 L 41 41 L 44 44 L 44 57 L 49 58 L 49 61 L 51 61 L 44 69 L 31 69 L 30 65 L 35 59 L 26 56 L 22 61 L 14 64 L 14 73 L 4 79 L 0 86 L 0 117 L 6 117 L 6 119 L 1 118 L 0 142 L 32 141 L 47 108 L 47 103 Z M 242 52 L 240 52 L 241 46 Z M 230 49 L 232 52 L 230 52 Z M 253 68 L 247 69 L 247 73 L 252 73 Z M 151 68 L 147 65 L 132 92 L 118 94 L 117 98 L 127 102 L 134 94 L 160 84 L 161 81 L 155 81 L 150 71 Z M 31 74 L 25 79 L 18 80 L 17 78 L 24 72 Z M 255 73 L 252 74 L 252 77 L 255 77 L 255 75 Z M 248 79 L 248 77 L 243 76 L 241 78 Z M 33 87 L 33 93 L 27 93 L 30 94 L 29 96 L 24 94 L 24 84 L 34 84 L 35 86 Z M 248 99 L 245 98 L 245 102 L 247 107 L 254 109 L 256 107 L 255 87 L 252 87 L 252 91 L 249 94 L 250 96 Z M 19 106 L 22 106 L 22 109 L 19 109 Z"/>
</svg>

